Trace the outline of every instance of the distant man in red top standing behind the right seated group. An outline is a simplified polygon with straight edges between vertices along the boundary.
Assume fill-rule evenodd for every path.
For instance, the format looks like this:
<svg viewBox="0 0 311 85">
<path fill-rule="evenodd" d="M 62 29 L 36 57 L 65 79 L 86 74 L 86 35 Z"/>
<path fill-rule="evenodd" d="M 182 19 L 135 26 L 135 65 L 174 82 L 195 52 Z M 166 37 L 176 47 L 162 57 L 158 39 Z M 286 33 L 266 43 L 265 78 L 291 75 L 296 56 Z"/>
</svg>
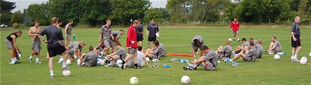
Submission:
<svg viewBox="0 0 311 85">
<path fill-rule="evenodd" d="M 235 41 L 235 35 L 237 35 L 237 42 L 240 42 L 239 28 L 240 23 L 237 21 L 237 18 L 234 18 L 234 21 L 230 25 L 230 29 L 233 30 L 233 41 Z"/>
</svg>

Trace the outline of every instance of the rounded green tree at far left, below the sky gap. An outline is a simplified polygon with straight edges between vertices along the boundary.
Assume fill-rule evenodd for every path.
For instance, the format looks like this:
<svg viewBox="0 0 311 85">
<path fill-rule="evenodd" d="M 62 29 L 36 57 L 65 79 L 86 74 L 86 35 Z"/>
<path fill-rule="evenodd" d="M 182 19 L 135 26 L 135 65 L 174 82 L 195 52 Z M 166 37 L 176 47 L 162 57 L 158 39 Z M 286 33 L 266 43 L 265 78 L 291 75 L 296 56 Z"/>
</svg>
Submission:
<svg viewBox="0 0 311 85">
<path fill-rule="evenodd" d="M 23 23 L 23 21 L 24 21 L 23 13 L 20 12 L 20 10 L 15 11 L 15 12 L 12 14 L 11 23 Z"/>
</svg>

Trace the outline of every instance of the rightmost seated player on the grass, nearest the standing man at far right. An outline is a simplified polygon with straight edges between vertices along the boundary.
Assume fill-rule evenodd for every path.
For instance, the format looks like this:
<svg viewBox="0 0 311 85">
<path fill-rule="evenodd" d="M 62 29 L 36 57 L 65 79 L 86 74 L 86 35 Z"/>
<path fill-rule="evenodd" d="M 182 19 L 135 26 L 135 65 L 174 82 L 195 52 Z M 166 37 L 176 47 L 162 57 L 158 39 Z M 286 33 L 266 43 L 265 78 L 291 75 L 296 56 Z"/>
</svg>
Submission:
<svg viewBox="0 0 311 85">
<path fill-rule="evenodd" d="M 275 54 L 276 52 L 281 52 L 282 47 L 281 43 L 276 40 L 276 36 L 272 36 L 271 38 L 272 42 L 270 43 L 270 47 L 268 50 L 266 50 L 269 54 Z"/>
</svg>

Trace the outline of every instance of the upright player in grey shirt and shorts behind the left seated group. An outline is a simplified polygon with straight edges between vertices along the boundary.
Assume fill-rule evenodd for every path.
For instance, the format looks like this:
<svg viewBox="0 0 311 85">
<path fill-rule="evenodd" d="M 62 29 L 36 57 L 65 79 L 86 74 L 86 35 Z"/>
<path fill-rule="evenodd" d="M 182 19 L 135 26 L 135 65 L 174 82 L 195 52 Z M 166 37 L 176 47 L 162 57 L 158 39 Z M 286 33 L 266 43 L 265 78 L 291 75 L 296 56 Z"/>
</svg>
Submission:
<svg viewBox="0 0 311 85">
<path fill-rule="evenodd" d="M 110 47 L 113 47 L 112 40 L 115 40 L 115 38 L 113 38 L 113 35 L 111 34 L 110 24 L 111 24 L 111 21 L 110 19 L 108 19 L 106 21 L 106 25 L 102 26 L 102 29 L 100 29 L 100 37 L 98 38 L 98 42 L 100 43 L 103 42 L 105 45 L 105 48 L 104 48 L 105 55 L 108 55 L 108 50 L 110 49 Z"/>
</svg>

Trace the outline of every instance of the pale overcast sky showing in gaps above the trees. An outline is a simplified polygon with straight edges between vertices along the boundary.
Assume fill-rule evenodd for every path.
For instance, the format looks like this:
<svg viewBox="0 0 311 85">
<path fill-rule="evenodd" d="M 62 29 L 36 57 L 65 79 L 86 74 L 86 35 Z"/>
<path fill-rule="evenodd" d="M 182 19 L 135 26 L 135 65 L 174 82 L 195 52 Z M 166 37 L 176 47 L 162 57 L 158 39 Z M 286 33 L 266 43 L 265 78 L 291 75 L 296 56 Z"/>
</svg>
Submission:
<svg viewBox="0 0 311 85">
<path fill-rule="evenodd" d="M 28 6 L 30 4 L 41 4 L 42 2 L 47 2 L 49 0 L 5 0 L 5 1 L 11 1 L 11 2 L 16 2 L 16 8 L 13 9 L 12 12 L 15 12 L 15 11 L 22 11 L 23 12 L 23 9 L 24 8 L 28 8 Z M 165 5 L 167 4 L 167 1 L 166 0 L 150 0 L 151 1 L 151 6 L 153 8 L 157 7 L 157 8 L 165 8 Z"/>
</svg>

